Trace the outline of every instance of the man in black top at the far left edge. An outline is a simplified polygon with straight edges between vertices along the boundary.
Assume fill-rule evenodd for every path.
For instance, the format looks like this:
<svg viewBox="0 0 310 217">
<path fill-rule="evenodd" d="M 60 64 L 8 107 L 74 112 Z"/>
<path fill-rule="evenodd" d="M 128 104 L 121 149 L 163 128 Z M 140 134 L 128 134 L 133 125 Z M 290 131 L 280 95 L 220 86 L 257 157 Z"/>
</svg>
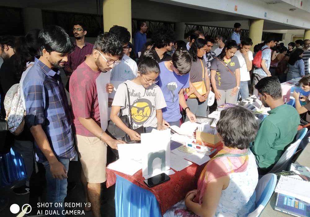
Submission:
<svg viewBox="0 0 310 217">
<path fill-rule="evenodd" d="M 3 64 L 0 68 L 0 94 L 1 94 L 1 113 L 5 117 L 4 97 L 13 84 L 17 84 L 19 79 L 15 71 L 14 62 L 16 55 L 14 52 L 15 38 L 13 36 L 2 36 L 0 38 L 0 57 Z"/>
</svg>

